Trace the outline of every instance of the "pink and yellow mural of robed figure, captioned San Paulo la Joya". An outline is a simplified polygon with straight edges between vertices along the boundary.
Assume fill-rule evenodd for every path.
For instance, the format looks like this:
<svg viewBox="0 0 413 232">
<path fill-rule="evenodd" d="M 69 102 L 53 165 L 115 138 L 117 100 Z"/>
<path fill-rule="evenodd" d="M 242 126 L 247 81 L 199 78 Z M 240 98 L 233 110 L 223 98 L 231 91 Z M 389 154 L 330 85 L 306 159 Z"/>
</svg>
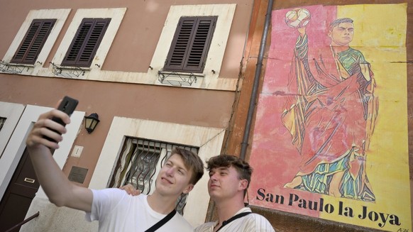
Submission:
<svg viewBox="0 0 413 232">
<path fill-rule="evenodd" d="M 272 12 L 250 203 L 411 231 L 406 4 Z"/>
</svg>

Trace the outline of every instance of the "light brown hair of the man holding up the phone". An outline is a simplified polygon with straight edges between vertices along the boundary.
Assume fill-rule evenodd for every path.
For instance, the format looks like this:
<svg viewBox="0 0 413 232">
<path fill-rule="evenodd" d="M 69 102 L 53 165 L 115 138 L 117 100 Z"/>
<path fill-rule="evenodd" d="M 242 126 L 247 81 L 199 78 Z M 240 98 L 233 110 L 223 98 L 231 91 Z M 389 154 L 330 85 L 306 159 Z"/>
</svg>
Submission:
<svg viewBox="0 0 413 232">
<path fill-rule="evenodd" d="M 176 147 L 172 149 L 170 157 L 175 154 L 181 156 L 182 160 L 184 160 L 184 165 L 188 170 L 192 170 L 192 177 L 189 180 L 189 183 L 197 184 L 198 180 L 204 175 L 204 163 L 201 158 L 199 158 L 199 155 L 185 148 Z"/>
</svg>

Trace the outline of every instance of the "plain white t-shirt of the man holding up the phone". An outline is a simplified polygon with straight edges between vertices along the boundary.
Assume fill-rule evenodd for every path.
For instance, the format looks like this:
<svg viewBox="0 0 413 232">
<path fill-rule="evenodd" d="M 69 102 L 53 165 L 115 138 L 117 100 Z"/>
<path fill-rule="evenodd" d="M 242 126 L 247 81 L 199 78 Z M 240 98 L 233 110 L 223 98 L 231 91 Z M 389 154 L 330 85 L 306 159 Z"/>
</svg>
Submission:
<svg viewBox="0 0 413 232">
<path fill-rule="evenodd" d="M 146 231 L 166 215 L 150 208 L 147 195 L 128 195 L 121 189 L 94 190 L 92 212 L 86 214 L 87 221 L 99 221 L 99 231 Z M 161 226 L 157 232 L 192 232 L 192 226 L 180 215 Z"/>
</svg>

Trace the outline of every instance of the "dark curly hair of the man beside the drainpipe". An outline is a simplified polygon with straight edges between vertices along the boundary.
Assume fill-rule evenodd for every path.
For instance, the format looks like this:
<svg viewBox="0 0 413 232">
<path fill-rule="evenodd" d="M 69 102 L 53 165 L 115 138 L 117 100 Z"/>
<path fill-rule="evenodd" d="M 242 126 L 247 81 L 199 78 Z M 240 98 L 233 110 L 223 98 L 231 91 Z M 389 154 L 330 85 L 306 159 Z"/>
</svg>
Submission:
<svg viewBox="0 0 413 232">
<path fill-rule="evenodd" d="M 248 181 L 247 189 L 250 186 L 253 168 L 248 162 L 241 160 L 241 158 L 235 155 L 216 155 L 206 161 L 206 165 L 206 169 L 209 172 L 216 167 L 234 167 L 238 172 L 239 179 L 246 179 Z"/>
</svg>

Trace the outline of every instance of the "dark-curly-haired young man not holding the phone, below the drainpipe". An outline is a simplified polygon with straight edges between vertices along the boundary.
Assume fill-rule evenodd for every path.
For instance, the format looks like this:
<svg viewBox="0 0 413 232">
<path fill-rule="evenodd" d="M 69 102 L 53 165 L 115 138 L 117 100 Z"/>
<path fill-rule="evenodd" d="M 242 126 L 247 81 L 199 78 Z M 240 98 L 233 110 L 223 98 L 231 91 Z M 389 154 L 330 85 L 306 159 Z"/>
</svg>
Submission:
<svg viewBox="0 0 413 232">
<path fill-rule="evenodd" d="M 244 205 L 253 172 L 248 162 L 234 155 L 217 155 L 206 164 L 209 197 L 215 202 L 219 220 L 204 223 L 195 232 L 273 232 L 264 216 L 253 214 Z"/>
</svg>

